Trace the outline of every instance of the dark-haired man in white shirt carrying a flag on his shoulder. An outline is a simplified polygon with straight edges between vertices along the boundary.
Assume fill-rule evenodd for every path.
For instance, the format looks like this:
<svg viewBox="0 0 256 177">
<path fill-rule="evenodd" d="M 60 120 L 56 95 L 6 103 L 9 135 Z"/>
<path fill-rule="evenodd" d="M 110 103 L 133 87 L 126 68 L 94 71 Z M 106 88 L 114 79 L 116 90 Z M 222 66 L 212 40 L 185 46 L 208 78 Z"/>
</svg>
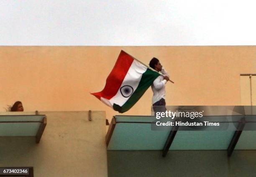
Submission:
<svg viewBox="0 0 256 177">
<path fill-rule="evenodd" d="M 156 112 L 165 112 L 165 84 L 169 81 L 169 74 L 164 70 L 157 58 L 152 58 L 149 66 L 156 71 L 160 71 L 164 76 L 158 76 L 151 85 L 153 91 L 152 105 Z"/>
</svg>

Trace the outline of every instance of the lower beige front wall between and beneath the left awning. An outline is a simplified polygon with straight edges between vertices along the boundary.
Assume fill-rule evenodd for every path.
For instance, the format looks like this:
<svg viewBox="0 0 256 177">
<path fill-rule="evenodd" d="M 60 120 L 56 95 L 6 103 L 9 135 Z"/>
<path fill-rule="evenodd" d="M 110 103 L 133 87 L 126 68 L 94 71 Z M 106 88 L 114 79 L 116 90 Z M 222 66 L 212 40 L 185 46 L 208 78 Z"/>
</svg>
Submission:
<svg viewBox="0 0 256 177">
<path fill-rule="evenodd" d="M 108 176 L 104 111 L 92 111 L 92 121 L 88 111 L 39 114 L 47 116 L 40 143 L 0 137 L 0 167 L 33 167 L 35 177 Z"/>
</svg>

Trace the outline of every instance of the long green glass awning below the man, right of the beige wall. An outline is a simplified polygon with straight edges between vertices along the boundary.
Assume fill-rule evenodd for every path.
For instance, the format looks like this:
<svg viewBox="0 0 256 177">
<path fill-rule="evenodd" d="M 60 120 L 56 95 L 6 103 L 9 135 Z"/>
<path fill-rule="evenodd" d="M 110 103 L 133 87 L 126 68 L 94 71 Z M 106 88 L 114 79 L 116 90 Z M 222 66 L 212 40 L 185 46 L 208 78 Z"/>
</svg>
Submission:
<svg viewBox="0 0 256 177">
<path fill-rule="evenodd" d="M 223 121 L 225 130 L 203 131 L 179 129 L 169 150 L 227 150 L 236 133 L 237 120 L 243 116 L 208 116 L 207 119 Z M 245 127 L 256 130 L 256 116 L 248 116 Z M 151 130 L 154 116 L 114 116 L 106 137 L 108 150 L 163 150 L 169 130 Z M 232 124 L 230 124 L 232 122 Z M 228 126 L 228 127 L 227 127 Z M 242 131 L 235 149 L 256 149 L 256 131 Z"/>
</svg>

